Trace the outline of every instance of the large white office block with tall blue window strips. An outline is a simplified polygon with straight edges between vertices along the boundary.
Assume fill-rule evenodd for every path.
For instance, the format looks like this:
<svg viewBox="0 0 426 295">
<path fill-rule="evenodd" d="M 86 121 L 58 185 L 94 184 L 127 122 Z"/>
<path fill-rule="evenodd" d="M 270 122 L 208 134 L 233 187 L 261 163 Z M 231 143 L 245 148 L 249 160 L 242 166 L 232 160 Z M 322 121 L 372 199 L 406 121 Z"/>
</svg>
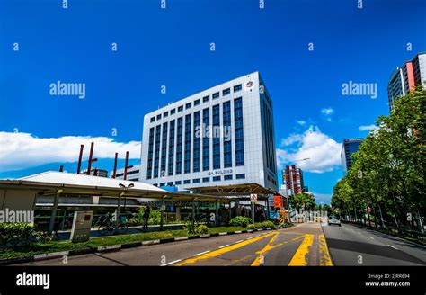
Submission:
<svg viewBox="0 0 426 295">
<path fill-rule="evenodd" d="M 179 190 L 243 183 L 277 190 L 272 110 L 254 72 L 147 113 L 140 180 Z"/>
</svg>

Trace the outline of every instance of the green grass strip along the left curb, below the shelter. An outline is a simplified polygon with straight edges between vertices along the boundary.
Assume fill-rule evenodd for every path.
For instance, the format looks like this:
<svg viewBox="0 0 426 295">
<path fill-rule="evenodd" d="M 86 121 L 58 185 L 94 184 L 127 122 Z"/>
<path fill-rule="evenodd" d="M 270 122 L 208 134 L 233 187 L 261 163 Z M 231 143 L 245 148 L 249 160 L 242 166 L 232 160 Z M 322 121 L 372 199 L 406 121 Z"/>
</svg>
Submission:
<svg viewBox="0 0 426 295">
<path fill-rule="evenodd" d="M 227 231 L 244 230 L 241 227 L 220 227 L 209 228 L 209 233 L 219 233 Z M 48 254 L 52 252 L 61 252 L 69 250 L 78 250 L 83 248 L 97 248 L 98 246 L 111 246 L 126 243 L 144 242 L 162 238 L 186 237 L 188 235 L 186 229 L 155 231 L 133 235 L 120 235 L 113 237 L 92 237 L 84 243 L 72 243 L 70 241 L 53 241 L 44 243 L 35 243 L 30 247 L 4 249 L 0 252 L 0 259 L 22 258 L 28 255 Z"/>
</svg>

